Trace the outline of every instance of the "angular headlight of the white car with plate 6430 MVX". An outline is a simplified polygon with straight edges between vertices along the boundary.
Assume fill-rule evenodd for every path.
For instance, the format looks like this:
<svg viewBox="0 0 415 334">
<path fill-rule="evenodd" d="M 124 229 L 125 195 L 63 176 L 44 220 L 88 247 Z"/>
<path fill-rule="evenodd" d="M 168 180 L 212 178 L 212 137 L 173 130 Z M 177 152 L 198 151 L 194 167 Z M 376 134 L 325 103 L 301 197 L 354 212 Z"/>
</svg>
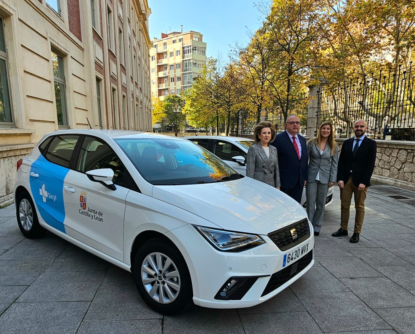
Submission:
<svg viewBox="0 0 415 334">
<path fill-rule="evenodd" d="M 215 248 L 225 252 L 246 251 L 253 247 L 265 244 L 265 241 L 256 234 L 246 234 L 223 229 L 210 229 L 208 227 L 193 225 L 207 241 Z"/>
</svg>

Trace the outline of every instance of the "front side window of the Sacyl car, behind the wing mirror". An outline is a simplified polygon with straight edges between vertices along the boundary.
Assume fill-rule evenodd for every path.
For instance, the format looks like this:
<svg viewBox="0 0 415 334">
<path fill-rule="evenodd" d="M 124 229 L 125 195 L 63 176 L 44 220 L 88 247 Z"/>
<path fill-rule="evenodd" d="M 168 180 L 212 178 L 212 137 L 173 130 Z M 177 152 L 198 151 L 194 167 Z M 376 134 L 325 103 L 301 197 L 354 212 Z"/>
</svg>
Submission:
<svg viewBox="0 0 415 334">
<path fill-rule="evenodd" d="M 123 186 L 125 167 L 120 158 L 107 144 L 97 138 L 85 137 L 79 153 L 76 170 L 80 172 L 111 168 L 114 171 L 112 183 Z"/>
</svg>

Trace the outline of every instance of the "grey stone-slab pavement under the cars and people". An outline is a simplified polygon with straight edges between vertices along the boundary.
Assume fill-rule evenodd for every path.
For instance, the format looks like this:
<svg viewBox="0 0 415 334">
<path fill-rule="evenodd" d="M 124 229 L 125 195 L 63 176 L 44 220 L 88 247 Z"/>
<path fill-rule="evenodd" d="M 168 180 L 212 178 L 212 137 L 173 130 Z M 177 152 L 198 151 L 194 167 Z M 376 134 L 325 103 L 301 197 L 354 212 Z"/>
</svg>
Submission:
<svg viewBox="0 0 415 334">
<path fill-rule="evenodd" d="M 350 244 L 353 224 L 349 237 L 331 237 L 339 228 L 336 187 L 315 238 L 315 265 L 302 278 L 256 307 L 195 306 L 176 317 L 149 309 L 131 273 L 53 234 L 24 238 L 10 205 L 0 210 L 0 333 L 415 333 L 414 198 L 369 188 L 360 242 Z"/>
</svg>

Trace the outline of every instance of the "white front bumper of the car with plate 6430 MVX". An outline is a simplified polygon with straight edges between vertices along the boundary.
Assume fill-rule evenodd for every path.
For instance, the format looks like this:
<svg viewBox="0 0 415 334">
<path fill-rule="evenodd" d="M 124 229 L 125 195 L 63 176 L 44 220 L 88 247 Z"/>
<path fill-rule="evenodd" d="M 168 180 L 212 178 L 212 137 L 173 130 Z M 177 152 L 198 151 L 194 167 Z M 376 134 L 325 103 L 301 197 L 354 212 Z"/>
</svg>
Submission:
<svg viewBox="0 0 415 334">
<path fill-rule="evenodd" d="M 312 231 L 311 226 L 310 231 Z M 260 304 L 298 280 L 314 264 L 313 234 L 286 251 L 281 251 L 268 236 L 261 235 L 266 241 L 265 244 L 240 253 L 227 253 L 214 249 L 190 224 L 173 229 L 167 232 L 166 236 L 183 254 L 192 279 L 193 302 L 203 307 L 235 308 Z M 309 243 L 308 252 L 290 266 L 283 268 L 284 254 L 307 243 Z M 295 265 L 296 270 L 292 273 L 292 266 Z M 252 276 L 257 277 L 256 281 L 241 299 L 215 299 L 218 291 L 229 278 Z"/>
</svg>

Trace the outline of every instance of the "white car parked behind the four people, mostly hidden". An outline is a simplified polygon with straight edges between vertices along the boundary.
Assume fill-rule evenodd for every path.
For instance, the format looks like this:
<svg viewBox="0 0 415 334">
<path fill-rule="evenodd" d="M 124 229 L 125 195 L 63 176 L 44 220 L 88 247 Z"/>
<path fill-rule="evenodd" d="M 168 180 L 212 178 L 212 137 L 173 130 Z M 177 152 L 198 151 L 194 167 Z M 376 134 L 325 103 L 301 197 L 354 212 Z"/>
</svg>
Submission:
<svg viewBox="0 0 415 334">
<path fill-rule="evenodd" d="M 254 139 L 243 137 L 225 137 L 225 136 L 189 136 L 186 139 L 202 146 L 208 151 L 221 158 L 238 173 L 247 175 L 245 159 L 249 147 L 255 144 Z M 333 187 L 329 188 L 326 197 L 326 205 L 333 201 Z M 301 205 L 305 207 L 305 187 L 301 196 Z"/>
</svg>

